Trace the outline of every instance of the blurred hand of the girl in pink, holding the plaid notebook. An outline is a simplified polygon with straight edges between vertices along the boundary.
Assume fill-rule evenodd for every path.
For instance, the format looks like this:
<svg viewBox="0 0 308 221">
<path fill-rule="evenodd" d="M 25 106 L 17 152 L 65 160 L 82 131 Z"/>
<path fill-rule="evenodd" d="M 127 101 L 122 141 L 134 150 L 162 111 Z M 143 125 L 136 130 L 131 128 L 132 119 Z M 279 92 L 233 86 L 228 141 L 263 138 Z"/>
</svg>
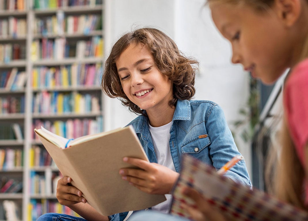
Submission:
<svg viewBox="0 0 308 221">
<path fill-rule="evenodd" d="M 183 194 L 195 201 L 193 207 L 186 204 L 182 204 L 183 208 L 188 211 L 190 216 L 197 221 L 226 221 L 225 217 L 221 215 L 221 212 L 213 207 L 203 198 L 203 196 L 195 189 L 186 187 L 183 190 Z"/>
</svg>

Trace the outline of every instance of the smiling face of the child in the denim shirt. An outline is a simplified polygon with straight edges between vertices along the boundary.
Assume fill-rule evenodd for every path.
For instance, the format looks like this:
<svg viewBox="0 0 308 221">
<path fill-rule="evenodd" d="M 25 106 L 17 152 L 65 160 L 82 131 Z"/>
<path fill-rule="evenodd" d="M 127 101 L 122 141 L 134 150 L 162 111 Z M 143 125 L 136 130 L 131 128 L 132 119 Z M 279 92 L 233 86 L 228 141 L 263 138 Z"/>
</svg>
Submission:
<svg viewBox="0 0 308 221">
<path fill-rule="evenodd" d="M 154 58 L 141 44 L 131 44 L 115 62 L 125 95 L 149 114 L 170 107 L 172 82 L 157 68 Z"/>
</svg>

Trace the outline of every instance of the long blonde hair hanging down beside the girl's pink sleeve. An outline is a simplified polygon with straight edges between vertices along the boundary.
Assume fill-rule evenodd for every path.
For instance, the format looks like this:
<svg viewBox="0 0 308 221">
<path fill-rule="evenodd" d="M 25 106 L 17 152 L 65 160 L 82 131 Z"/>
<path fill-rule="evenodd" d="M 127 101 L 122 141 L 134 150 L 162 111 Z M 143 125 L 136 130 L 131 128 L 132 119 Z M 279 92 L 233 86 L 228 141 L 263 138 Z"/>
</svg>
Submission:
<svg viewBox="0 0 308 221">
<path fill-rule="evenodd" d="M 283 119 L 279 135 L 279 148 L 272 147 L 267 157 L 265 168 L 267 188 L 280 200 L 305 209 L 303 198 L 305 173 L 285 119 Z"/>
</svg>

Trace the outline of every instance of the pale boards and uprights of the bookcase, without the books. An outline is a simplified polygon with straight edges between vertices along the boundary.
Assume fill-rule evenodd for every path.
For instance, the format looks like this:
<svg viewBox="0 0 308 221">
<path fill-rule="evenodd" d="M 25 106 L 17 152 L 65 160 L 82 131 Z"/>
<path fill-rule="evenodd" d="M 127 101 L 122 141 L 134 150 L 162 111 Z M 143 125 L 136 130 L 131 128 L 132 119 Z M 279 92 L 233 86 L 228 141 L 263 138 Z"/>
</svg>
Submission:
<svg viewBox="0 0 308 221">
<path fill-rule="evenodd" d="M 92 2 L 92 1 L 91 1 Z M 34 0 L 27 1 L 25 0 L 26 10 L 17 11 L 17 10 L 0 10 L 0 19 L 8 19 L 9 17 L 17 17 L 26 19 L 27 33 L 26 36 L 6 36 L 2 37 L 0 35 L 0 44 L 21 44 L 26 46 L 26 56 L 25 59 L 19 60 L 11 60 L 10 62 L 1 62 L 0 61 L 0 75 L 2 71 L 10 70 L 11 68 L 18 68 L 18 71 L 25 71 L 27 76 L 27 82 L 24 89 L 20 89 L 17 91 L 8 91 L 4 88 L 0 88 L 0 98 L 6 96 L 25 96 L 25 110 L 24 113 L 14 113 L 14 114 L 1 114 L 0 112 L 0 122 L 16 122 L 21 126 L 23 131 L 24 139 L 22 141 L 17 141 L 14 139 L 5 139 L 0 140 L 0 149 L 22 149 L 23 150 L 23 166 L 16 167 L 13 169 L 0 169 L 0 182 L 2 177 L 7 178 L 16 178 L 22 180 L 23 188 L 22 192 L 18 193 L 0 193 L 0 206 L 4 200 L 12 200 L 16 203 L 18 210 L 18 216 L 20 220 L 23 221 L 31 221 L 35 219 L 35 214 L 31 211 L 30 203 L 34 200 L 37 202 L 40 201 L 54 201 L 57 202 L 55 193 L 52 190 L 49 190 L 50 194 L 46 193 L 31 193 L 30 189 L 33 188 L 31 186 L 31 174 L 39 174 L 41 176 L 45 176 L 48 181 L 48 186 L 51 187 L 51 176 L 53 173 L 58 174 L 59 171 L 55 166 L 30 166 L 30 158 L 31 158 L 31 148 L 32 146 L 39 146 L 44 149 L 40 142 L 33 139 L 33 124 L 34 121 L 39 120 L 49 120 L 51 123 L 62 120 L 66 121 L 68 119 L 93 119 L 97 120 L 99 118 L 103 118 L 104 122 L 104 99 L 105 96 L 99 86 L 99 84 L 85 86 L 56 86 L 56 87 L 32 87 L 32 72 L 34 68 L 46 66 L 48 68 L 55 67 L 60 68 L 66 65 L 72 64 L 97 64 L 101 63 L 103 67 L 103 56 L 95 57 L 84 57 L 84 58 L 75 58 L 75 57 L 66 57 L 63 59 L 38 59 L 31 60 L 31 47 L 32 42 L 37 40 L 42 40 L 43 38 L 47 39 L 57 39 L 64 38 L 67 42 L 77 42 L 79 40 L 89 41 L 92 37 L 100 36 L 102 39 L 105 38 L 104 26 L 106 21 L 104 21 L 105 17 L 105 6 L 104 1 L 102 4 L 95 6 L 69 6 L 69 7 L 61 7 L 57 9 L 34 9 Z M 63 34 L 40 34 L 34 33 L 34 25 L 36 18 L 44 18 L 52 15 L 56 15 L 57 13 L 63 13 L 66 18 L 69 15 L 79 16 L 81 14 L 91 15 L 96 14 L 100 15 L 102 20 L 102 28 L 101 30 L 93 30 L 89 33 L 63 33 Z M 75 44 L 75 43 L 73 43 Z M 91 111 L 89 113 L 34 113 L 33 112 L 33 102 L 36 94 L 39 93 L 71 93 L 75 95 L 80 93 L 82 95 L 90 94 L 96 96 L 99 100 L 99 111 Z M 1 108 L 1 107 L 0 107 Z M 1 124 L 1 123 L 0 123 Z M 0 125 L 1 126 L 1 125 Z M 102 130 L 105 129 L 105 126 L 102 125 Z M 99 132 L 99 131 L 97 131 Z M 33 210 L 33 208 L 32 208 Z M 47 211 L 48 212 L 48 211 Z M 0 211 L 1 213 L 1 211 Z M 0 221 L 1 216 L 0 216 Z"/>
</svg>

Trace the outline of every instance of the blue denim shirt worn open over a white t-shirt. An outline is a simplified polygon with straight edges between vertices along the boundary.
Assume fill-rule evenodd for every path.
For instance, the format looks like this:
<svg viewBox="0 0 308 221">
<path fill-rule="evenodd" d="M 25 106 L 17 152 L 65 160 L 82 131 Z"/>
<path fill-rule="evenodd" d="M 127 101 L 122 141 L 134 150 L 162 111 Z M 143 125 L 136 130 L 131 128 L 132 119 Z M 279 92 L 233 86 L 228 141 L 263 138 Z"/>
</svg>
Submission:
<svg viewBox="0 0 308 221">
<path fill-rule="evenodd" d="M 132 125 L 148 155 L 149 161 L 157 163 L 153 142 L 148 126 L 148 118 L 139 116 Z M 169 147 L 176 172 L 181 171 L 184 154 L 191 155 L 217 170 L 240 153 L 234 143 L 231 131 L 221 107 L 211 101 L 178 100 L 172 118 Z M 225 176 L 251 187 L 245 161 L 239 161 Z M 122 221 L 127 212 L 109 216 Z"/>
</svg>

